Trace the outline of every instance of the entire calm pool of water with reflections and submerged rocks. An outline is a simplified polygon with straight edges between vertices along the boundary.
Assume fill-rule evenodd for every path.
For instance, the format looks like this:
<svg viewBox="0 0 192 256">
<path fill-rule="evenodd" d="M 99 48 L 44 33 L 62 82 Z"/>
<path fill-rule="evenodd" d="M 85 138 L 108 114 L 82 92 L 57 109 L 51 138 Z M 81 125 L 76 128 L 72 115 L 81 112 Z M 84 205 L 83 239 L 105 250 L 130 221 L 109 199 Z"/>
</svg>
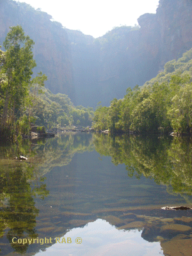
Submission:
<svg viewBox="0 0 192 256">
<path fill-rule="evenodd" d="M 0 147 L 0 255 L 192 255 L 192 211 L 161 209 L 192 207 L 191 146 L 80 133 Z"/>
</svg>

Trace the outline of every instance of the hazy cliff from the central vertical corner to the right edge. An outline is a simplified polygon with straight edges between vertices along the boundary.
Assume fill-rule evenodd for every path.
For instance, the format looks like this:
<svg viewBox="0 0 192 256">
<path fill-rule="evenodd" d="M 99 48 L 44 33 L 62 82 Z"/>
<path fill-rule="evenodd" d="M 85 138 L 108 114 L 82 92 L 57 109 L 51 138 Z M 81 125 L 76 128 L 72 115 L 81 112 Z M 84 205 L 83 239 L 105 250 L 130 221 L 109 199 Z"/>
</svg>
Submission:
<svg viewBox="0 0 192 256">
<path fill-rule="evenodd" d="M 93 43 L 72 43 L 77 104 L 109 105 L 192 47 L 191 0 L 160 0 L 156 14 L 145 13 L 138 23 L 140 28 L 115 28 Z"/>
</svg>

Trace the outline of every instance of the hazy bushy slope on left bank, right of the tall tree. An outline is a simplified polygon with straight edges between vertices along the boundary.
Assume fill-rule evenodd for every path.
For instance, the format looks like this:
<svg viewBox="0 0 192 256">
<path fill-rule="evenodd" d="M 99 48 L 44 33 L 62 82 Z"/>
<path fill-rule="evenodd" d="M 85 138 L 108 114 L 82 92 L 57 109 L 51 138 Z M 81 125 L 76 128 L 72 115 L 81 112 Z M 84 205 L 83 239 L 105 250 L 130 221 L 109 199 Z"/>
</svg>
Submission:
<svg viewBox="0 0 192 256">
<path fill-rule="evenodd" d="M 37 125 L 44 125 L 48 129 L 92 125 L 93 108 L 75 107 L 67 95 L 55 95 L 46 88 L 42 92 L 33 102 L 33 116 Z"/>
</svg>

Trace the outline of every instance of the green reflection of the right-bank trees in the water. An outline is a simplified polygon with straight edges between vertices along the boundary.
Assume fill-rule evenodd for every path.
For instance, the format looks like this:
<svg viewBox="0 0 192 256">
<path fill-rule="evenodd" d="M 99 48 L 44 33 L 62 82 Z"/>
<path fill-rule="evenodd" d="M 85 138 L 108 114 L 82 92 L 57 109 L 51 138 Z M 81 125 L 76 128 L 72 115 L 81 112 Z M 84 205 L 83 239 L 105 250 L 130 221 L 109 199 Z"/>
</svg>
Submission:
<svg viewBox="0 0 192 256">
<path fill-rule="evenodd" d="M 169 193 L 192 194 L 192 147 L 186 138 L 94 135 L 95 150 L 126 165 L 129 177 L 152 177 Z"/>
</svg>

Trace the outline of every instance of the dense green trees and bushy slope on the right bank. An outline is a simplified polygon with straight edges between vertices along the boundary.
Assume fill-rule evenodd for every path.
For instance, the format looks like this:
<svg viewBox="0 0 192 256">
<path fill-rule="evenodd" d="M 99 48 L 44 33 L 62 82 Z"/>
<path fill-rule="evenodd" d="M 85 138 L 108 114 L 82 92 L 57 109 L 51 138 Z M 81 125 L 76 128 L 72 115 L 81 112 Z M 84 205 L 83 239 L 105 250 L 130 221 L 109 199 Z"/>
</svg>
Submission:
<svg viewBox="0 0 192 256">
<path fill-rule="evenodd" d="M 192 132 L 192 50 L 164 65 L 145 86 L 127 89 L 124 99 L 99 106 L 93 118 L 97 130 L 110 132 Z"/>
</svg>

